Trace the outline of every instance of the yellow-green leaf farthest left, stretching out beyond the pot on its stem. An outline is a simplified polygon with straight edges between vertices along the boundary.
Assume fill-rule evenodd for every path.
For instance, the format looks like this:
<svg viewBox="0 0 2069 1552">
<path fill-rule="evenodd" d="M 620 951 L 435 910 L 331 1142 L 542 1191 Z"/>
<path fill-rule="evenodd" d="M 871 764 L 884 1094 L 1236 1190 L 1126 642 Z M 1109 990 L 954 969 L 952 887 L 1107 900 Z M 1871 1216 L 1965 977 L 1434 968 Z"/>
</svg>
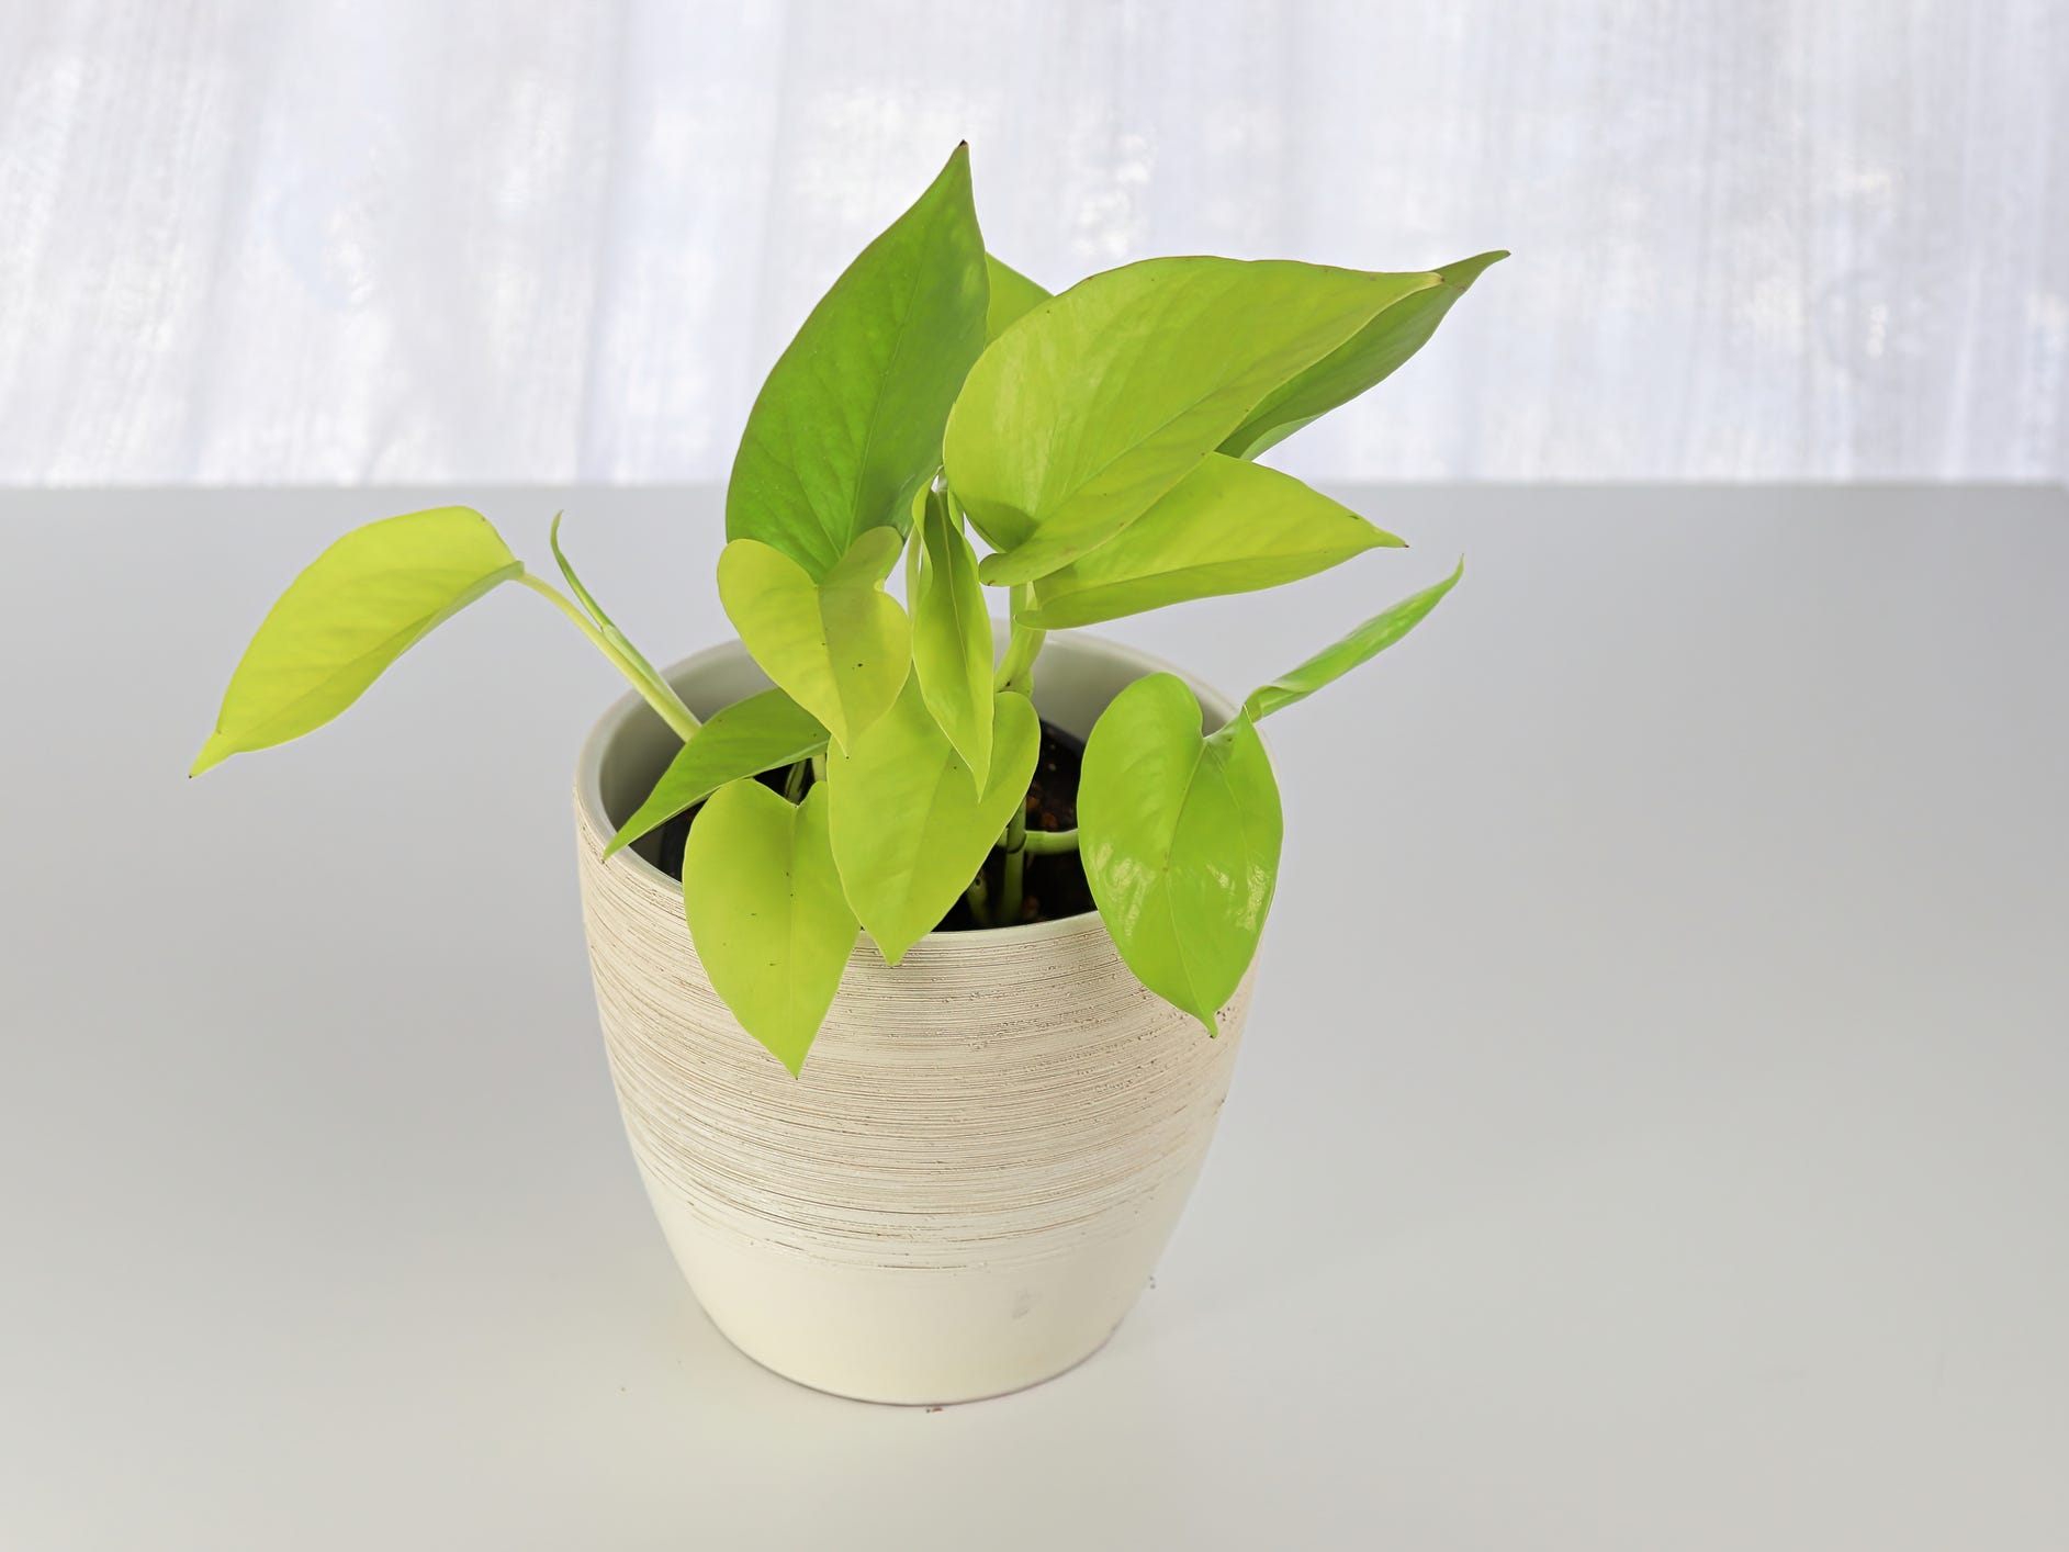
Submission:
<svg viewBox="0 0 2069 1552">
<path fill-rule="evenodd" d="M 259 625 L 188 774 L 321 728 L 432 627 L 521 573 L 488 519 L 468 507 L 354 528 Z"/>
</svg>

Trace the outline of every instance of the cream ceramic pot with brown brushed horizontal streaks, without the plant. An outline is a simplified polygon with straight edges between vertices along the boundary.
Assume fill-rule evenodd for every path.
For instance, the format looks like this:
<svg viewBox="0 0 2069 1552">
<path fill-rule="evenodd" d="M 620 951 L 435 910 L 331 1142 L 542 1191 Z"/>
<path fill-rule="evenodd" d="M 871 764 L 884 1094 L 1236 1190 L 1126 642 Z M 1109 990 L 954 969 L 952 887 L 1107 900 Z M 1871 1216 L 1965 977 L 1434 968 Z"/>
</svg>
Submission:
<svg viewBox="0 0 2069 1552">
<path fill-rule="evenodd" d="M 1051 637 L 1037 702 L 1082 737 L 1165 666 Z M 699 714 L 768 687 L 739 646 L 668 679 Z M 1194 689 L 1208 726 L 1233 714 Z M 699 1304 L 749 1357 L 865 1401 L 968 1401 L 1078 1364 L 1177 1223 L 1250 983 L 1208 1039 L 1097 915 L 933 933 L 898 968 L 863 937 L 790 1078 L 712 991 L 679 886 L 633 848 L 602 859 L 672 747 L 627 695 L 583 745 L 575 815 L 625 1132 Z"/>
</svg>

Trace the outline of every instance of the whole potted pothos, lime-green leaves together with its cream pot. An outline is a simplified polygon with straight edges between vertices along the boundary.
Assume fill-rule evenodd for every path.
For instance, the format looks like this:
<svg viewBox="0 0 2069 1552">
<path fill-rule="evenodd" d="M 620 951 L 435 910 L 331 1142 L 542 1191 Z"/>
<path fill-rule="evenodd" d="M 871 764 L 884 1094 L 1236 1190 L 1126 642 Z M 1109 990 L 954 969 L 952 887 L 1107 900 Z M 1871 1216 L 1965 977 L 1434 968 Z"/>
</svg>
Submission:
<svg viewBox="0 0 2069 1552">
<path fill-rule="evenodd" d="M 581 751 L 583 913 L 699 1302 L 842 1395 L 1032 1384 L 1134 1304 L 1212 1134 L 1279 867 L 1258 724 L 1457 573 L 1241 702 L 1049 633 L 1399 544 L 1254 459 L 1500 257 L 1155 259 L 1049 296 L 987 257 L 958 147 L 755 399 L 718 563 L 737 644 L 658 670 L 559 517 L 567 592 L 476 511 L 389 517 L 265 617 L 194 774 L 331 720 L 488 590 L 546 598 L 635 691 Z"/>
</svg>

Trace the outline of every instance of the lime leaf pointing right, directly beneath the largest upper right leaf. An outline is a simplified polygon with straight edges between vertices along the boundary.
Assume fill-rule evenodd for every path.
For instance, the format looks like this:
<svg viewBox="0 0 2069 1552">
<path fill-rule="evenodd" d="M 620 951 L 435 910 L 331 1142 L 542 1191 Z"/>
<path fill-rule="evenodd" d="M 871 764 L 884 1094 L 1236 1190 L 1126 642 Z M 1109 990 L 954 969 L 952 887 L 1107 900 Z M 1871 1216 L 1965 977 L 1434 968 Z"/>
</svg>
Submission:
<svg viewBox="0 0 2069 1552">
<path fill-rule="evenodd" d="M 1037 629 L 1097 625 L 1188 598 L 1277 588 L 1401 544 L 1291 474 L 1208 453 L 1146 513 L 1034 584 L 1016 619 Z"/>
</svg>

